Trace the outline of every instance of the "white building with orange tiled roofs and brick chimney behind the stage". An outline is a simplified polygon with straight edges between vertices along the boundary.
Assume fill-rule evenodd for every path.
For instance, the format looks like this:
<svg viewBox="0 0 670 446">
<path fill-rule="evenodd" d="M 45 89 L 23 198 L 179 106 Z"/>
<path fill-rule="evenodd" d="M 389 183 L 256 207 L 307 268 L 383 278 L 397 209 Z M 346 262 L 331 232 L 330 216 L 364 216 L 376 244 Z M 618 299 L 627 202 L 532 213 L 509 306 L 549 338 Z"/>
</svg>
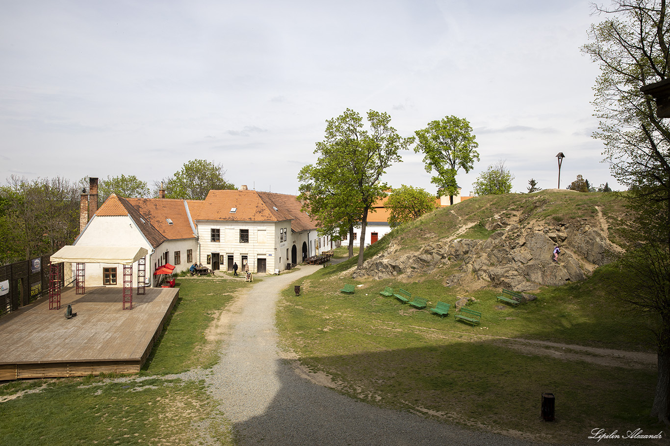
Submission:
<svg viewBox="0 0 670 446">
<path fill-rule="evenodd" d="M 248 264 L 254 273 L 272 273 L 331 247 L 330 238 L 319 237 L 314 221 L 300 211 L 295 195 L 243 186 L 210 191 L 204 201 L 111 195 L 99 209 L 93 201 L 93 194 L 82 194 L 82 228 L 74 245 L 145 247 L 148 286 L 157 285 L 149 277 L 166 263 L 175 265 L 175 273 L 193 263 L 214 271 Z M 86 263 L 85 271 L 87 286 L 121 287 L 122 265 Z"/>
</svg>

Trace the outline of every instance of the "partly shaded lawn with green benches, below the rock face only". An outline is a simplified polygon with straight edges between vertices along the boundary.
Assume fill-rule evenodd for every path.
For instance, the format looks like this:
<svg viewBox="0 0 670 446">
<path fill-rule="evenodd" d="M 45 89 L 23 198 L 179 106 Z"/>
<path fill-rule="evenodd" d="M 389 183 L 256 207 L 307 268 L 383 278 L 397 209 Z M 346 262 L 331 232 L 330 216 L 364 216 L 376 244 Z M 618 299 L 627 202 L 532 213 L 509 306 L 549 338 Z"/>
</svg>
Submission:
<svg viewBox="0 0 670 446">
<path fill-rule="evenodd" d="M 285 345 L 306 366 L 340 382 L 342 393 L 553 443 L 586 442 L 595 427 L 664 429 L 648 416 L 656 384 L 653 364 L 597 364 L 568 358 L 569 348 L 537 354 L 507 339 L 648 351 L 651 322 L 598 293 L 600 275 L 582 284 L 545 288 L 537 300 L 512 308 L 496 302 L 500 290 L 466 293 L 433 279 L 407 284 L 338 275 L 350 266 L 344 262 L 299 281 L 302 296 L 284 292 L 277 315 Z M 356 285 L 355 294 L 338 292 L 344 284 Z M 450 316 L 440 318 L 381 296 L 385 286 L 432 304 L 452 304 Z M 476 298 L 468 308 L 482 312 L 481 326 L 454 320 L 457 296 Z M 556 396 L 556 423 L 540 417 L 541 394 L 547 392 Z"/>
</svg>

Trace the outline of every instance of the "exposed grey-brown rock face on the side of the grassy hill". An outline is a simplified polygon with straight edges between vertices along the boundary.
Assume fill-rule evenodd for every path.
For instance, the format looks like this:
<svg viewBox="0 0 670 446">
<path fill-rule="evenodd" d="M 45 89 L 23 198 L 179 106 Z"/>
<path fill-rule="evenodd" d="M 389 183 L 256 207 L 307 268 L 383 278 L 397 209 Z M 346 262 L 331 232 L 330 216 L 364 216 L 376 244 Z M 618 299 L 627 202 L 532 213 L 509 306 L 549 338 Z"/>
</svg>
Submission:
<svg viewBox="0 0 670 446">
<path fill-rule="evenodd" d="M 538 286 L 561 286 L 585 280 L 610 258 L 606 235 L 590 225 L 523 227 L 506 219 L 491 219 L 485 227 L 496 230 L 486 240 L 455 239 L 423 245 L 415 253 L 399 253 L 391 246 L 367 260 L 354 277 L 378 279 L 429 274 L 452 263 L 461 263 L 462 273 L 452 274 L 446 286 L 466 280 L 525 292 Z M 559 262 L 551 261 L 555 245 L 561 247 Z M 530 296 L 530 295 L 528 295 Z"/>
</svg>

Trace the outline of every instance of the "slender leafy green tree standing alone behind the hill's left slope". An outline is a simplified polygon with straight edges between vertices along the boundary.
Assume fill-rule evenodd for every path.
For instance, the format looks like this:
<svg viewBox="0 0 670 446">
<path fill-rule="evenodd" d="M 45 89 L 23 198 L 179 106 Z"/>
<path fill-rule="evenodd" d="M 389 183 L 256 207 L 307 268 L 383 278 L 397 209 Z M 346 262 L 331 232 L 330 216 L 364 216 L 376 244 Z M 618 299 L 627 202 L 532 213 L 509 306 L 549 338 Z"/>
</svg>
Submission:
<svg viewBox="0 0 670 446">
<path fill-rule="evenodd" d="M 438 187 L 438 197 L 450 195 L 454 204 L 454 195 L 458 193 L 456 173 L 463 169 L 470 172 L 474 160 L 479 160 L 472 127 L 466 119 L 445 116 L 442 120 L 428 123 L 426 128 L 416 130 L 417 146 L 415 152 L 423 152 L 425 171 L 435 171 L 431 183 Z"/>
</svg>

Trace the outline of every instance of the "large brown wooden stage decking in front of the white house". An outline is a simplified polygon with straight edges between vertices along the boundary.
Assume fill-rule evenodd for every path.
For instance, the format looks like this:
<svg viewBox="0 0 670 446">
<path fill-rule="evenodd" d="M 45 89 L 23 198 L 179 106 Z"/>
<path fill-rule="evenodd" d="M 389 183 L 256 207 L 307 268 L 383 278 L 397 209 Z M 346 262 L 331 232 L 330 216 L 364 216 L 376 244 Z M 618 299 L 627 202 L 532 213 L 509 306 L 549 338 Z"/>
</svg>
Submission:
<svg viewBox="0 0 670 446">
<path fill-rule="evenodd" d="M 147 288 L 123 310 L 121 288 L 86 288 L 49 298 L 0 318 L 0 380 L 139 372 L 163 330 L 179 288 Z M 68 304 L 77 316 L 65 318 Z"/>
</svg>

